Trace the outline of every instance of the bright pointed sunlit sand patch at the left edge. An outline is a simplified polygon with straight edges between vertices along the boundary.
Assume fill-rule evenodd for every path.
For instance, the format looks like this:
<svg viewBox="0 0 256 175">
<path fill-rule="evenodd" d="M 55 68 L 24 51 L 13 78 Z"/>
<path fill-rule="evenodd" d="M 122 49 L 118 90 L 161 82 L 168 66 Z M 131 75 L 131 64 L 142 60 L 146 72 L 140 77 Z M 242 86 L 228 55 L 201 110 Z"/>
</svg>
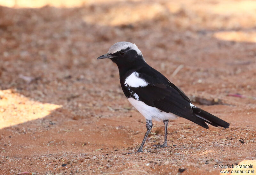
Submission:
<svg viewBox="0 0 256 175">
<path fill-rule="evenodd" d="M 33 101 L 12 90 L 0 90 L 0 128 L 43 118 L 62 106 Z"/>
</svg>

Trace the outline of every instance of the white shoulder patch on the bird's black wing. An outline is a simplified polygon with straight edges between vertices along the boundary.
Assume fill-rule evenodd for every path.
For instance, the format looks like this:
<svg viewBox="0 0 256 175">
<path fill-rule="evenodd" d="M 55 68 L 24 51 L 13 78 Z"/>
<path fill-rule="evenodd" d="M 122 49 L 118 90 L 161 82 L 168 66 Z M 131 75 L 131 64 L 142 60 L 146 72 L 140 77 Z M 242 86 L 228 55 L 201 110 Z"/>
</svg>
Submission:
<svg viewBox="0 0 256 175">
<path fill-rule="evenodd" d="M 132 74 L 125 79 L 124 85 L 128 85 L 132 88 L 139 88 L 148 86 L 148 83 L 144 79 L 139 78 L 138 72 L 132 72 Z"/>
</svg>

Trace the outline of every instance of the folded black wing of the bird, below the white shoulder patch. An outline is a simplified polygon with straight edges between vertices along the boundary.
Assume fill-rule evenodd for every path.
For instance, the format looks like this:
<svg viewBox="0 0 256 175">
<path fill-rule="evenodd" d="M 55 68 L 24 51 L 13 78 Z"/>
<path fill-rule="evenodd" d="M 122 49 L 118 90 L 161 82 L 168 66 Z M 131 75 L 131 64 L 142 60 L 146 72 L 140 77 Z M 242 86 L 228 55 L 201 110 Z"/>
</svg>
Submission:
<svg viewBox="0 0 256 175">
<path fill-rule="evenodd" d="M 144 66 L 136 70 L 136 72 L 148 85 L 138 88 L 122 86 L 123 90 L 125 88 L 130 94 L 136 93 L 139 96 L 139 100 L 149 106 L 156 107 L 164 112 L 171 112 L 204 128 L 208 128 L 203 119 L 194 115 L 189 98 L 164 75 L 150 66 Z M 133 96 L 131 95 L 131 97 Z"/>
</svg>

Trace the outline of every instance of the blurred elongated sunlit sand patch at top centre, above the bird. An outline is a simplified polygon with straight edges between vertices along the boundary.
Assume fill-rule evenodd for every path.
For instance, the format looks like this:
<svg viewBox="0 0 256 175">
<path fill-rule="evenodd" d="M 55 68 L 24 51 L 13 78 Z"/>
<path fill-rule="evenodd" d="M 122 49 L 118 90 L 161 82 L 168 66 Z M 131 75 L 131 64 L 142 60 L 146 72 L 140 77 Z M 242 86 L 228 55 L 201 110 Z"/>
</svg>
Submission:
<svg viewBox="0 0 256 175">
<path fill-rule="evenodd" d="M 154 19 L 157 15 L 163 14 L 165 10 L 164 6 L 158 3 L 141 3 L 135 6 L 126 4 L 113 6 L 108 11 L 97 11 L 88 14 L 83 19 L 90 24 L 118 26 Z"/>
</svg>

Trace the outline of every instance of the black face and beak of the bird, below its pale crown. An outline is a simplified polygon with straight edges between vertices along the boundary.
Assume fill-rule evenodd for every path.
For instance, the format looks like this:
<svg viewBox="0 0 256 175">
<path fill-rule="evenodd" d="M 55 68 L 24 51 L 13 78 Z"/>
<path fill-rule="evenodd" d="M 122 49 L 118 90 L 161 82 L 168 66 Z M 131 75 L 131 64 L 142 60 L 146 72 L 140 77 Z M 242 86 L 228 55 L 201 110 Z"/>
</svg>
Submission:
<svg viewBox="0 0 256 175">
<path fill-rule="evenodd" d="M 105 54 L 100 56 L 97 59 L 109 58 L 116 65 L 120 67 L 127 67 L 129 65 L 134 65 L 135 63 L 139 63 L 141 61 L 145 62 L 141 55 L 139 55 L 135 50 L 128 47 L 127 49 L 120 50 L 113 54 Z"/>
</svg>

